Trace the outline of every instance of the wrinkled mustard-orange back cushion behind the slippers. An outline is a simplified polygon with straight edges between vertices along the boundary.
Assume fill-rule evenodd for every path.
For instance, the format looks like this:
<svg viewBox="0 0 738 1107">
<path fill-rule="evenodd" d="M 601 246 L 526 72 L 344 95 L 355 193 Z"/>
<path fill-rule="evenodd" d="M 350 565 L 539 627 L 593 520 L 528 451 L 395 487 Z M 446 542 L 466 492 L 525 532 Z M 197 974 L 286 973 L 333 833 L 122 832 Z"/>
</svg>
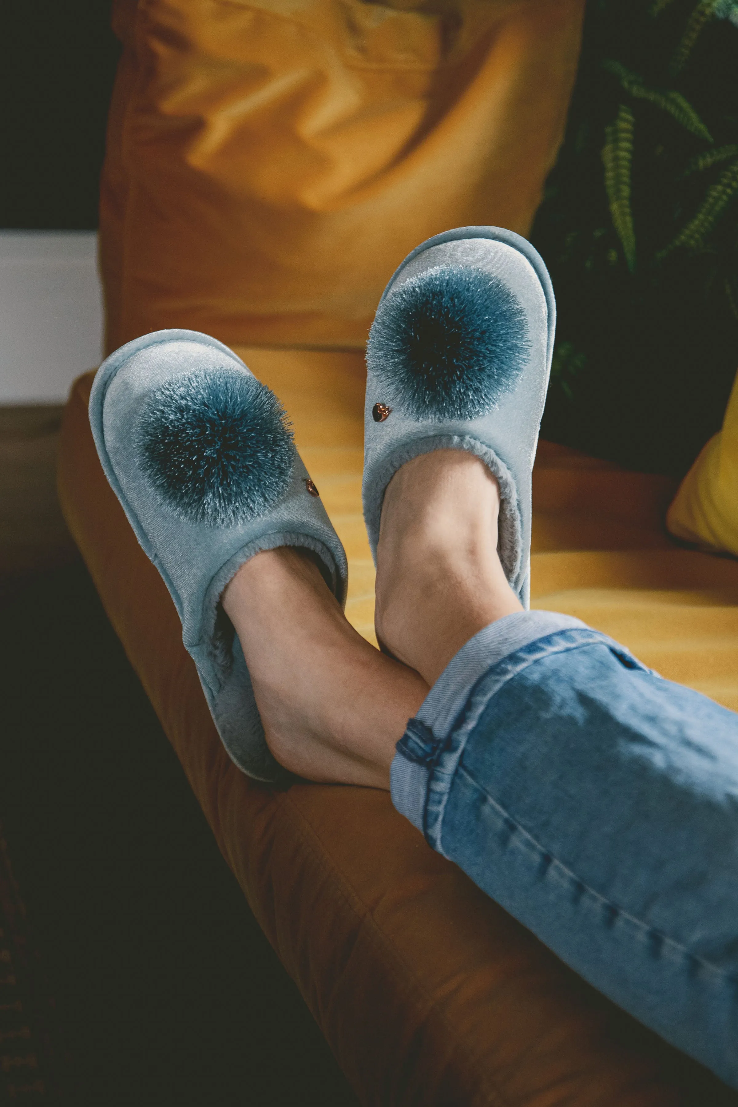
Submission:
<svg viewBox="0 0 738 1107">
<path fill-rule="evenodd" d="M 526 234 L 583 0 L 117 0 L 101 195 L 107 349 L 149 330 L 363 346 L 454 226 Z"/>
</svg>

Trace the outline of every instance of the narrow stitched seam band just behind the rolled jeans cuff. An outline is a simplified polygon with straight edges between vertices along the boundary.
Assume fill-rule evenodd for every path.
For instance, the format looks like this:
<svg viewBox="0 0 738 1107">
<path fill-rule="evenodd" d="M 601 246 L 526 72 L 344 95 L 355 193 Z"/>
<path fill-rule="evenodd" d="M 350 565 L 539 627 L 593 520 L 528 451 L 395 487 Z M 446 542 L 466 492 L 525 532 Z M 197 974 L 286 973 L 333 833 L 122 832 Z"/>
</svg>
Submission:
<svg viewBox="0 0 738 1107">
<path fill-rule="evenodd" d="M 550 645 L 545 650 L 543 650 L 543 652 L 541 652 L 540 645 L 542 642 L 547 642 L 549 639 L 563 635 L 567 635 L 567 638 L 569 639 L 573 634 L 580 638 L 584 637 L 584 641 L 574 641 L 574 642 L 563 641 L 560 644 L 554 644 L 553 646 Z M 578 628 L 575 630 L 553 631 L 551 634 L 543 635 L 543 638 L 534 639 L 532 642 L 529 642 L 528 645 L 521 646 L 519 650 L 516 650 L 513 653 L 508 654 L 506 658 L 500 658 L 497 664 L 492 665 L 491 669 L 488 669 L 487 672 L 482 673 L 472 684 L 465 703 L 459 708 L 454 718 L 454 722 L 449 726 L 446 738 L 443 742 L 439 742 L 438 749 L 436 751 L 433 761 L 428 765 L 428 786 L 426 790 L 425 804 L 423 806 L 423 834 L 426 840 L 433 846 L 433 848 L 436 849 L 444 857 L 447 857 L 447 855 L 444 852 L 441 846 L 441 836 L 443 836 L 444 815 L 446 811 L 446 804 L 448 801 L 448 796 L 454 785 L 454 777 L 456 775 L 458 766 L 461 763 L 461 757 L 464 756 L 464 749 L 466 747 L 471 730 L 479 721 L 479 716 L 486 708 L 489 701 L 492 699 L 492 696 L 497 695 L 497 693 L 500 692 L 501 689 L 509 681 L 511 681 L 513 676 L 517 676 L 519 673 L 523 672 L 523 670 L 528 669 L 536 661 L 540 661 L 541 658 L 549 658 L 555 653 L 567 653 L 569 650 L 580 650 L 583 649 L 584 646 L 592 645 L 595 642 L 600 644 L 605 644 L 609 646 L 609 649 L 612 649 L 613 645 L 617 645 L 617 643 L 613 642 L 613 640 L 607 638 L 607 635 L 602 634 L 600 631 L 591 630 L 589 627 L 585 628 L 584 630 L 580 630 Z M 621 652 L 624 652 L 622 646 L 620 646 L 620 650 Z M 510 665 L 510 659 L 514 658 L 518 654 L 521 654 L 518 662 L 514 665 Z M 482 702 L 474 704 L 474 700 L 482 682 L 486 681 L 489 676 L 493 675 L 499 669 L 502 669 L 506 665 L 510 668 L 510 672 L 507 673 L 507 675 L 503 677 L 500 684 L 495 689 L 495 691 L 489 696 L 485 697 Z M 462 727 L 465 730 L 465 734 L 459 737 L 458 732 Z M 455 742 L 457 737 L 459 737 L 459 741 Z M 399 752 L 402 753 L 402 751 Z M 429 817 L 430 816 L 429 807 L 430 807 L 430 797 L 434 793 L 434 775 L 438 769 L 439 763 L 441 762 L 443 758 L 447 758 L 450 763 L 448 772 L 445 774 L 448 776 L 448 784 L 444 789 L 443 798 L 438 801 L 437 809 L 433 813 L 433 827 L 432 827 L 432 820 Z"/>
</svg>

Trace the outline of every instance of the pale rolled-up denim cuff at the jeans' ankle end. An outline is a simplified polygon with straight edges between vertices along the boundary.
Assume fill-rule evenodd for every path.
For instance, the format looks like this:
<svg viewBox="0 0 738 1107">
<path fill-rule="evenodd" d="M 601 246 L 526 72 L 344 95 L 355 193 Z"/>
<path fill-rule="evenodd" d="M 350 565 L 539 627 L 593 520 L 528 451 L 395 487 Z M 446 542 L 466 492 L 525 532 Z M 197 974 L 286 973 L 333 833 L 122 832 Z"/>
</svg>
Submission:
<svg viewBox="0 0 738 1107">
<path fill-rule="evenodd" d="M 517 611 L 498 619 L 461 646 L 443 671 L 397 743 L 389 769 L 392 801 L 413 826 L 425 830 L 430 769 L 477 681 L 492 665 L 539 638 L 586 629 L 581 619 L 554 611 Z"/>
</svg>

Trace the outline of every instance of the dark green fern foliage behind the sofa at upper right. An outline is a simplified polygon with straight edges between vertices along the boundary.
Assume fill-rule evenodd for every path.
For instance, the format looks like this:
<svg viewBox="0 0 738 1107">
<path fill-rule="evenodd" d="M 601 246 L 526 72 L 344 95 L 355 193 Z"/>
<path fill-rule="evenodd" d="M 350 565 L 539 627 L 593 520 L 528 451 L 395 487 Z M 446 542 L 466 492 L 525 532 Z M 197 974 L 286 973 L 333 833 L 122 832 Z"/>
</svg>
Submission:
<svg viewBox="0 0 738 1107">
<path fill-rule="evenodd" d="M 683 474 L 735 376 L 738 32 L 723 21 L 737 12 L 738 0 L 586 4 L 533 227 L 560 318 L 544 434 L 633 468 Z"/>
</svg>

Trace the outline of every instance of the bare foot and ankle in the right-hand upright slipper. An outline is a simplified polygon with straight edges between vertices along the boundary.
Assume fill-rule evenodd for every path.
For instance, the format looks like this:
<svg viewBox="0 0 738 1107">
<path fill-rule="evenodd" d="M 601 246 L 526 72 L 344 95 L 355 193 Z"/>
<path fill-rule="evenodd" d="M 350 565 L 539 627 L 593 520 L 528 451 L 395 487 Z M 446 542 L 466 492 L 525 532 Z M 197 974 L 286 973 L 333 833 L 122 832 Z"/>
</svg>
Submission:
<svg viewBox="0 0 738 1107">
<path fill-rule="evenodd" d="M 497 554 L 500 493 L 474 454 L 441 449 L 387 485 L 377 548 L 377 640 L 433 684 L 496 619 L 522 611 Z"/>
</svg>

